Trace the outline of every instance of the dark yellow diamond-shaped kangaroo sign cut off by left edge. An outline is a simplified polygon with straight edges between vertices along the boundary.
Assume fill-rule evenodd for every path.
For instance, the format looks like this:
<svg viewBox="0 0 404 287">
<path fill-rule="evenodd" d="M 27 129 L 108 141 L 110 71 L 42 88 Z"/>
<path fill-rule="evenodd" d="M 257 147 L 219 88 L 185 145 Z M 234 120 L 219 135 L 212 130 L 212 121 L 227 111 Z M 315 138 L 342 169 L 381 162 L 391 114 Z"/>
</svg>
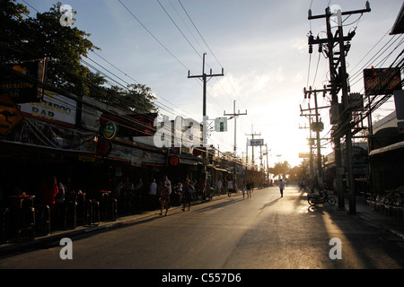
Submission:
<svg viewBox="0 0 404 287">
<path fill-rule="evenodd" d="M 0 95 L 0 135 L 6 135 L 23 116 L 7 93 Z"/>
</svg>

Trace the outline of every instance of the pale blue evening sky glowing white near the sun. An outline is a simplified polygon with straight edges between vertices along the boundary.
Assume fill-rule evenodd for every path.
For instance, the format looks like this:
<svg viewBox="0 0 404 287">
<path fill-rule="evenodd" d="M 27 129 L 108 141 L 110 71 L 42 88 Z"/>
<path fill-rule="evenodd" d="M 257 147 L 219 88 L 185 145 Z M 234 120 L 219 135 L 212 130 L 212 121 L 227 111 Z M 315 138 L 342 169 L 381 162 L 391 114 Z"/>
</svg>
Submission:
<svg viewBox="0 0 404 287">
<path fill-rule="evenodd" d="M 18 0 L 31 15 L 57 1 Z M 356 28 L 347 55 L 351 91 L 363 92 L 362 70 L 371 65 L 390 65 L 398 55 L 402 38 L 389 35 L 402 4 L 401 0 L 369 1 L 371 13 L 345 19 L 345 34 Z M 192 117 L 202 121 L 202 81 L 188 74 L 202 74 L 202 55 L 206 53 L 206 114 L 210 120 L 233 113 L 237 117 L 236 152 L 251 156 L 246 143 L 251 134 L 268 146 L 268 166 L 279 161 L 299 165 L 299 152 L 308 152 L 307 109 L 313 100 L 304 100 L 303 88 L 321 89 L 328 83 L 328 59 L 313 48 L 308 53 L 307 35 L 325 38 L 325 19 L 308 20 L 325 13 L 327 6 L 339 5 L 342 11 L 363 9 L 364 0 L 63 0 L 77 12 L 74 26 L 90 33 L 89 39 L 101 48 L 89 58 L 127 83 L 142 83 L 157 97 L 161 114 Z M 29 5 L 28 5 L 29 4 Z M 67 29 L 67 28 L 66 28 Z M 396 40 L 396 41 L 392 41 Z M 388 46 L 391 45 L 391 46 Z M 396 48 L 396 50 L 394 50 Z M 380 53 L 378 54 L 378 52 Z M 391 55 L 390 55 L 391 53 Z M 390 57 L 387 57 L 389 56 Z M 379 56 L 379 57 L 375 57 Z M 384 58 L 386 57 L 386 58 Z M 108 62 L 107 62 L 108 61 Z M 110 65 L 112 64 L 112 65 Z M 380 66 L 378 66 L 380 65 Z M 105 73 L 107 70 L 103 70 Z M 111 77 L 114 77 L 111 75 Z M 135 81 L 134 81 L 135 80 Z M 122 83 L 117 79 L 119 83 Z M 319 106 L 329 105 L 329 96 L 319 97 Z M 377 110 L 375 118 L 391 112 L 391 100 Z M 321 137 L 330 152 L 329 109 L 321 109 L 325 129 Z M 301 127 L 301 128 L 300 128 Z M 228 131 L 212 132 L 209 143 L 221 152 L 233 152 L 234 119 Z M 266 147 L 262 147 L 265 151 Z M 259 164 L 259 148 L 255 148 Z M 266 164 L 266 157 L 263 159 Z"/>
</svg>

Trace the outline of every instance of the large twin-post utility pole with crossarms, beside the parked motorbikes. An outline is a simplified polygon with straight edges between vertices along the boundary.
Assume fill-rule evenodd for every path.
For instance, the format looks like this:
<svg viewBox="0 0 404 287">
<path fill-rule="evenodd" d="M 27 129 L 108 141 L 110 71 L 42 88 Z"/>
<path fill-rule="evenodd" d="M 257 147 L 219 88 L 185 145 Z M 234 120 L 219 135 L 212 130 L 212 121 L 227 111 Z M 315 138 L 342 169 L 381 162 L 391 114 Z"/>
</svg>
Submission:
<svg viewBox="0 0 404 287">
<path fill-rule="evenodd" d="M 334 152 L 337 164 L 337 188 L 338 188 L 338 207 L 340 209 L 345 208 L 343 190 L 342 190 L 342 157 L 341 157 L 341 147 L 340 138 L 345 135 L 346 138 L 346 162 L 347 162 L 347 187 L 349 188 L 349 213 L 356 213 L 356 193 L 355 193 L 355 182 L 352 166 L 352 126 L 351 126 L 351 110 L 348 105 L 348 92 L 349 87 L 347 85 L 347 65 L 346 56 L 347 51 L 350 47 L 349 42 L 355 36 L 355 30 L 349 32 L 347 36 L 344 36 L 342 29 L 342 16 L 352 15 L 356 13 L 368 13 L 371 12 L 369 1 L 366 1 L 365 9 L 342 12 L 338 9 L 337 12 L 331 12 L 329 7 L 326 8 L 325 14 L 312 16 L 312 10 L 309 10 L 309 20 L 313 19 L 326 19 L 327 24 L 327 39 L 314 39 L 311 35 L 309 37 L 309 52 L 312 53 L 312 45 L 326 44 L 325 47 L 328 48 L 326 51 L 327 57 L 329 58 L 329 74 L 330 74 L 330 93 L 332 96 L 332 104 L 330 109 L 331 114 L 331 125 L 333 125 L 332 137 L 334 138 Z M 331 31 L 331 17 L 337 17 L 338 19 L 338 30 L 335 36 Z M 311 31 L 312 32 L 312 31 Z M 339 51 L 335 52 L 333 49 L 339 44 Z M 339 57 L 334 57 L 338 55 Z M 338 103 L 338 91 L 342 90 L 341 104 Z"/>
</svg>

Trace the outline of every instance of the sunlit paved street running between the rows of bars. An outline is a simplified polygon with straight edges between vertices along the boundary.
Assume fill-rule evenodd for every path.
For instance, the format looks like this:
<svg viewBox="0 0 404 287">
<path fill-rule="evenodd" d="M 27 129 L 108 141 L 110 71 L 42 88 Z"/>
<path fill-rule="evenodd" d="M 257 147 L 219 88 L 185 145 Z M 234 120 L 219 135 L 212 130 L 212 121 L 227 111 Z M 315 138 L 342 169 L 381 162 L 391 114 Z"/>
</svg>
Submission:
<svg viewBox="0 0 404 287">
<path fill-rule="evenodd" d="M 383 269 L 404 266 L 404 241 L 347 211 L 309 208 L 297 186 L 255 189 L 251 198 L 221 196 L 182 212 L 145 218 L 72 238 L 63 246 L 0 258 L 0 268 Z M 340 244 L 330 245 L 330 239 Z M 334 248 L 335 247 L 335 248 Z M 330 252 L 331 248 L 337 250 Z M 339 248 L 339 249 L 338 249 Z M 330 256 L 335 253 L 340 256 Z"/>
</svg>

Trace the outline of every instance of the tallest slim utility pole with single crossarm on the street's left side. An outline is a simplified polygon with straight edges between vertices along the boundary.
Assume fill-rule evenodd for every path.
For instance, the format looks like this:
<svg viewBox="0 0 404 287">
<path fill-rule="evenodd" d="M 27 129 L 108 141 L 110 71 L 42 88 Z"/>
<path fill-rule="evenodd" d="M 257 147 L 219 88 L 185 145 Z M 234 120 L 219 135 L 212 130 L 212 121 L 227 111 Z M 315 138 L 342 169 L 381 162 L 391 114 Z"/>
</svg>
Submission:
<svg viewBox="0 0 404 287">
<path fill-rule="evenodd" d="M 210 74 L 205 73 L 205 55 L 203 55 L 203 63 L 202 63 L 202 74 L 201 75 L 190 75 L 188 71 L 188 78 L 199 78 L 202 79 L 202 82 L 204 83 L 204 88 L 203 88 L 203 105 L 202 105 L 202 116 L 203 116 L 203 128 L 204 131 L 206 131 L 206 83 L 212 78 L 212 77 L 217 77 L 217 76 L 224 76 L 224 68 L 222 68 L 222 74 L 212 74 L 212 69 L 210 69 Z M 205 196 L 206 196 L 206 190 L 207 190 L 207 139 L 206 135 L 204 133 L 204 145 L 205 145 L 205 152 L 203 153 L 203 159 L 204 159 L 204 169 L 205 169 Z"/>
</svg>

